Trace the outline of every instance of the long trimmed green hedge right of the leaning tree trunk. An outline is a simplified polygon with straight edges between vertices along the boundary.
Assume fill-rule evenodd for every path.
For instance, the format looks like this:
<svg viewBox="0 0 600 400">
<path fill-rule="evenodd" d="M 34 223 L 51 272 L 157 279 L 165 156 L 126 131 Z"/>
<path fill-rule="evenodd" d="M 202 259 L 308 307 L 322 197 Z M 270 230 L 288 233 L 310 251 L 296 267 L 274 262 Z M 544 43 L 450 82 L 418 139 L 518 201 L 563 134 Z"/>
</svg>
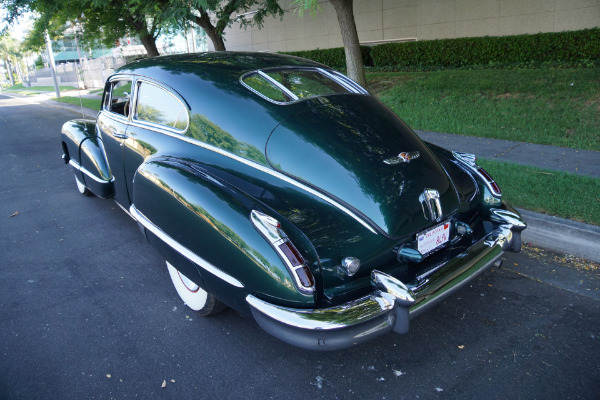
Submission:
<svg viewBox="0 0 600 400">
<path fill-rule="evenodd" d="M 374 46 L 375 67 L 444 67 L 600 60 L 600 29 L 471 37 Z"/>
</svg>

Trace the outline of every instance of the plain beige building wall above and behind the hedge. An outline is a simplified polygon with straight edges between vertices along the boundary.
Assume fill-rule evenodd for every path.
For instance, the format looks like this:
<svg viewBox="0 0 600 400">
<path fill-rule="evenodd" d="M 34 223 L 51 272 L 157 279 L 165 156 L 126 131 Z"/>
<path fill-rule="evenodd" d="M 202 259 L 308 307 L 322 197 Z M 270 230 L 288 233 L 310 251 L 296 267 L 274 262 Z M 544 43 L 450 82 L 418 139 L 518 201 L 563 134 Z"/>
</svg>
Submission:
<svg viewBox="0 0 600 400">
<path fill-rule="evenodd" d="M 269 18 L 260 30 L 237 25 L 227 29 L 227 49 L 296 51 L 343 45 L 328 1 L 319 1 L 321 11 L 303 17 L 294 12 L 292 2 L 280 1 L 286 10 L 283 19 Z M 600 0 L 354 0 L 354 16 L 359 40 L 366 44 L 504 36 L 598 27 Z"/>
</svg>

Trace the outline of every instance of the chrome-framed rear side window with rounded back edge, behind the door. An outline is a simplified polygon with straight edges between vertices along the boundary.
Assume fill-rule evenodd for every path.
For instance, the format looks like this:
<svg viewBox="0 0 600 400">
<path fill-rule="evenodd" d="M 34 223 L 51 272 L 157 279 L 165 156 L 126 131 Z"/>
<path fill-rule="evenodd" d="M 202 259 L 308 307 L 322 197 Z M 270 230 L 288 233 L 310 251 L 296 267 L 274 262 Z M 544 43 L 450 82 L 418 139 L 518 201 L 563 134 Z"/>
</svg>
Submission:
<svg viewBox="0 0 600 400">
<path fill-rule="evenodd" d="M 150 83 L 140 83 L 135 119 L 184 131 L 188 126 L 185 106 L 166 90 Z"/>
</svg>

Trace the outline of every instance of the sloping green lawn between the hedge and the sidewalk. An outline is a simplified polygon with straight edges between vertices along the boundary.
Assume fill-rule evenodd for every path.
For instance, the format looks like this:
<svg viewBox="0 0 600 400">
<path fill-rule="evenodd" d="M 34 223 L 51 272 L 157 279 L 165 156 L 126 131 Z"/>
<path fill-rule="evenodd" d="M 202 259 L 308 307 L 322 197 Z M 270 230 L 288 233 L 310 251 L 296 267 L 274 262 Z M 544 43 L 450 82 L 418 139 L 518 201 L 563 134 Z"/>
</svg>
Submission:
<svg viewBox="0 0 600 400">
<path fill-rule="evenodd" d="M 600 70 L 369 73 L 414 129 L 600 151 Z"/>
</svg>

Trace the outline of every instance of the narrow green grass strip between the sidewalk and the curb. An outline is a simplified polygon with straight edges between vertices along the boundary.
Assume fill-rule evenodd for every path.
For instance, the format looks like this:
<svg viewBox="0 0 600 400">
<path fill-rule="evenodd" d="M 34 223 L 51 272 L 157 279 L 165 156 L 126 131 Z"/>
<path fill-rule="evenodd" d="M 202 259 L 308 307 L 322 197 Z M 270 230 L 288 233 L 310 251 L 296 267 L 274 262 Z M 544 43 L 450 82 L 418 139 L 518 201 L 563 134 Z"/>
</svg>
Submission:
<svg viewBox="0 0 600 400">
<path fill-rule="evenodd" d="M 514 207 L 600 226 L 600 179 L 478 158 Z"/>
</svg>

